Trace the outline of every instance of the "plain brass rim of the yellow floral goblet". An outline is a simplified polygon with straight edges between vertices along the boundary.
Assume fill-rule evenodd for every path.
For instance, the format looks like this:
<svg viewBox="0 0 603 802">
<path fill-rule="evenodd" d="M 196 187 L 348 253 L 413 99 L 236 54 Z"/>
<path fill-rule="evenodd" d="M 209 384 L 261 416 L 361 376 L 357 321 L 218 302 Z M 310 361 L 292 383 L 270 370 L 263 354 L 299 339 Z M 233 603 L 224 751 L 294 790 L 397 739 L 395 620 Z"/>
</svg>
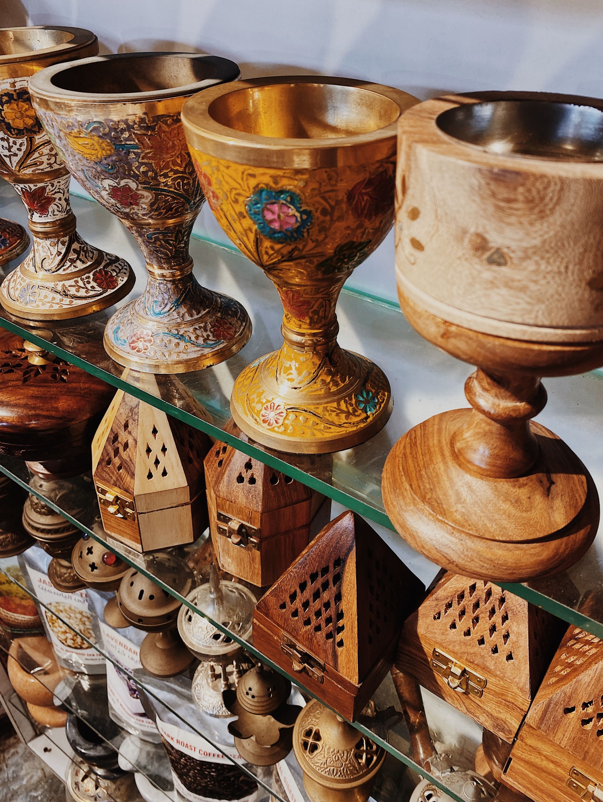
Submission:
<svg viewBox="0 0 603 802">
<path fill-rule="evenodd" d="M 282 83 L 327 84 L 373 92 L 393 101 L 399 107 L 399 114 L 391 123 L 373 131 L 311 139 L 242 132 L 217 122 L 210 114 L 209 107 L 214 100 L 230 92 Z M 415 103 L 419 103 L 419 99 L 386 84 L 332 75 L 277 75 L 221 84 L 189 98 L 182 107 L 182 124 L 189 146 L 209 156 L 239 164 L 275 168 L 362 164 L 366 160 L 376 161 L 395 154 L 399 119 Z"/>
</svg>

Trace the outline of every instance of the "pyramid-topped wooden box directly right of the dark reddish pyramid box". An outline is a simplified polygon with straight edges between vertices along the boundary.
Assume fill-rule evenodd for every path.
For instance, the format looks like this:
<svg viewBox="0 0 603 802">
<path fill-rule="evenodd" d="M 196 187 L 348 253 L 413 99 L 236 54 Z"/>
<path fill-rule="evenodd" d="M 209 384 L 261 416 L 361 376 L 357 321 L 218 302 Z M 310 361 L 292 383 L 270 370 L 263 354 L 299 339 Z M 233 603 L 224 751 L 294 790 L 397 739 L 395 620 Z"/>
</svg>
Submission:
<svg viewBox="0 0 603 802">
<path fill-rule="evenodd" d="M 498 585 L 445 573 L 404 624 L 396 667 L 511 743 L 560 626 Z"/>
</svg>

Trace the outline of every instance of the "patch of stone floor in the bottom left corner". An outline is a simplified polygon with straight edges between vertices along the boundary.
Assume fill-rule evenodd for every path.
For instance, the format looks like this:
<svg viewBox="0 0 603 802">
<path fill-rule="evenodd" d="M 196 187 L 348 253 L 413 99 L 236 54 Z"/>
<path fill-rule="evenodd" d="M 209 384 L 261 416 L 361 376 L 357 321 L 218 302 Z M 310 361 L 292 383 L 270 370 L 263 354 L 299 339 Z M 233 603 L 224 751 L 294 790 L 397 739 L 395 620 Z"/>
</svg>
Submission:
<svg viewBox="0 0 603 802">
<path fill-rule="evenodd" d="M 64 802 L 65 786 L 0 719 L 0 802 Z"/>
</svg>

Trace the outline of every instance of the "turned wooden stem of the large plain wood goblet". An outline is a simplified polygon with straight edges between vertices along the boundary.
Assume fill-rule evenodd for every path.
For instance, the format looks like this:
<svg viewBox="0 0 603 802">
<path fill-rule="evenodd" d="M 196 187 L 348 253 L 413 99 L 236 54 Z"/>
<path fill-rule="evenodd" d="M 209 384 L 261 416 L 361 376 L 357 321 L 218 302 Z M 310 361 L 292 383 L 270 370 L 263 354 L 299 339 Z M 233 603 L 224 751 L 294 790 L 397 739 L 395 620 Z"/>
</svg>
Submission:
<svg viewBox="0 0 603 802">
<path fill-rule="evenodd" d="M 465 395 L 473 412 L 453 437 L 455 453 L 465 467 L 497 479 L 528 472 L 539 451 L 529 421 L 547 401 L 540 379 L 478 368 L 467 379 Z"/>
</svg>

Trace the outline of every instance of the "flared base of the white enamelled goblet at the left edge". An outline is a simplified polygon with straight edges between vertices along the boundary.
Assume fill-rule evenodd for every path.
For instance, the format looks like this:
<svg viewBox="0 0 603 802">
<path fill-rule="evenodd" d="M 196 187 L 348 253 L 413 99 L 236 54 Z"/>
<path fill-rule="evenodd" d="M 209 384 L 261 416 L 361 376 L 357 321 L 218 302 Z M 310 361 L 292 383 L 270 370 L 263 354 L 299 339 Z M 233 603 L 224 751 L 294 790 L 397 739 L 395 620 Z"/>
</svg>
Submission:
<svg viewBox="0 0 603 802">
<path fill-rule="evenodd" d="M 40 264 L 48 269 L 37 269 Z M 0 303 L 27 320 L 81 318 L 125 298 L 134 281 L 127 261 L 73 234 L 65 241 L 35 241 L 25 260 L 2 282 Z"/>
</svg>

